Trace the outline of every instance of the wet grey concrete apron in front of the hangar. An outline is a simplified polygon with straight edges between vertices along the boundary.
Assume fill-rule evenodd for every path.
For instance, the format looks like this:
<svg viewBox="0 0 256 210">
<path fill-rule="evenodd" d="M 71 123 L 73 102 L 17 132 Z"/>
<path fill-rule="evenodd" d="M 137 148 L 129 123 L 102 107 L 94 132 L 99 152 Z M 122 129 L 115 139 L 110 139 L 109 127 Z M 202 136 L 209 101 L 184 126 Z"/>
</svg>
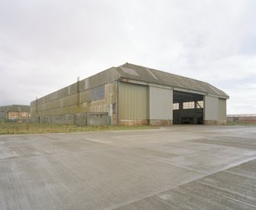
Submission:
<svg viewBox="0 0 256 210">
<path fill-rule="evenodd" d="M 0 209 L 256 206 L 256 129 L 0 136 Z"/>
</svg>

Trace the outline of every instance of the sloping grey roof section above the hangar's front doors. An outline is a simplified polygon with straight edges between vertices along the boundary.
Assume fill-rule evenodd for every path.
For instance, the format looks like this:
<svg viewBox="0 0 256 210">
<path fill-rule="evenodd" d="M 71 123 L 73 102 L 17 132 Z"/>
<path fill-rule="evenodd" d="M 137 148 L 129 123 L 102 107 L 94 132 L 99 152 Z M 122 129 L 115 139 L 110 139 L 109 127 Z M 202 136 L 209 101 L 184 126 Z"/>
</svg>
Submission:
<svg viewBox="0 0 256 210">
<path fill-rule="evenodd" d="M 119 76 L 125 79 L 134 79 L 182 89 L 190 89 L 215 95 L 222 95 L 228 98 L 228 95 L 222 90 L 217 89 L 215 86 L 212 86 L 207 82 L 196 79 L 190 79 L 184 76 L 178 76 L 144 66 L 137 66 L 131 63 L 125 63 L 122 66 L 115 67 L 115 69 L 118 71 Z"/>
</svg>

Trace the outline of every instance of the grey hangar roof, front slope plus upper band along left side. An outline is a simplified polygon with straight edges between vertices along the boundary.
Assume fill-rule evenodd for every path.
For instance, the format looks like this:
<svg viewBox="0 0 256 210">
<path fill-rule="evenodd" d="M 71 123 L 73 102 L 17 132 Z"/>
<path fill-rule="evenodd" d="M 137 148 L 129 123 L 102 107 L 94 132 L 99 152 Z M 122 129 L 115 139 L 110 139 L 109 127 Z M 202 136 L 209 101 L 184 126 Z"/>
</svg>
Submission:
<svg viewBox="0 0 256 210">
<path fill-rule="evenodd" d="M 36 105 L 37 102 L 42 104 L 54 99 L 66 97 L 67 95 L 72 95 L 78 91 L 78 88 L 79 91 L 83 92 L 86 89 L 102 86 L 119 79 L 131 79 L 141 82 L 151 82 L 160 86 L 170 86 L 173 87 L 176 93 L 177 91 L 183 91 L 184 89 L 184 92 L 203 92 L 206 94 L 218 95 L 219 98 L 228 99 L 228 95 L 225 94 L 225 92 L 207 82 L 166 73 L 156 69 L 150 69 L 144 66 L 125 63 L 122 66 L 112 67 L 100 73 L 96 73 L 93 76 L 89 76 L 88 78 L 79 81 L 79 86 L 78 82 L 75 82 L 70 86 L 66 86 L 63 89 L 45 95 L 44 97 L 31 102 L 31 105 Z"/>
</svg>

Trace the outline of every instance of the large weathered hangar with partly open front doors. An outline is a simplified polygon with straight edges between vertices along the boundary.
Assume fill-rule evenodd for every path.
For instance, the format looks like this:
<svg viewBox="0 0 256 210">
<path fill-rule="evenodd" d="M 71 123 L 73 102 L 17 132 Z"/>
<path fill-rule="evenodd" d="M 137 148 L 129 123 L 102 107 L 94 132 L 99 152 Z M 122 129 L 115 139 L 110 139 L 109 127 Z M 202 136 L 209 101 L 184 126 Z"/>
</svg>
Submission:
<svg viewBox="0 0 256 210">
<path fill-rule="evenodd" d="M 207 82 L 125 63 L 31 102 L 41 122 L 225 124 L 228 95 Z"/>
</svg>

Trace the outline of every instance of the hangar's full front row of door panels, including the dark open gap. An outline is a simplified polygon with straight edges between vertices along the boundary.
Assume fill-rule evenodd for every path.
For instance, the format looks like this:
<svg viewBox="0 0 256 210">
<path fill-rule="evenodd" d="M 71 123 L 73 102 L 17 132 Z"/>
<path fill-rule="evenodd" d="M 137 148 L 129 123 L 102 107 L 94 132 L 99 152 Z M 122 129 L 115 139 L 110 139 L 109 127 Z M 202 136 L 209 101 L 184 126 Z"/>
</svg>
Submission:
<svg viewBox="0 0 256 210">
<path fill-rule="evenodd" d="M 118 84 L 118 124 L 222 124 L 225 99 L 171 87 Z"/>
</svg>

